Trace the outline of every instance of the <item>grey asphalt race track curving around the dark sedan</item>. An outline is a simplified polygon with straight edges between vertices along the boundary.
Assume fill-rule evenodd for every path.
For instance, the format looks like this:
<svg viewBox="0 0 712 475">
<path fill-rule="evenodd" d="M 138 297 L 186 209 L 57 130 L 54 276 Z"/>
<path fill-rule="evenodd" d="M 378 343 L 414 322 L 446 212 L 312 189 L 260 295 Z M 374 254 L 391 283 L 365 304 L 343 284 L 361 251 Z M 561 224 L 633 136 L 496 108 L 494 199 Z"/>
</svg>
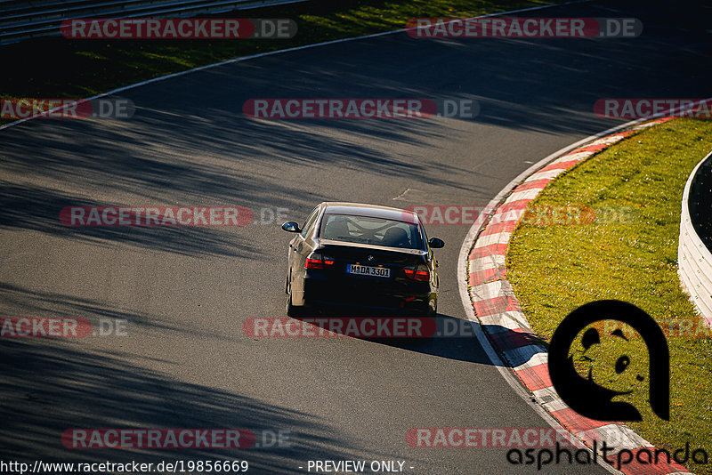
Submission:
<svg viewBox="0 0 712 475">
<path fill-rule="evenodd" d="M 708 97 L 711 13 L 702 2 L 672 1 L 530 13 L 635 17 L 644 25 L 638 38 L 378 36 L 143 85 L 121 93 L 136 105 L 128 120 L 32 120 L 0 131 L 2 314 L 127 320 L 124 336 L 0 340 L 0 455 L 238 458 L 250 473 L 306 473 L 309 460 L 344 459 L 405 461 L 414 474 L 536 471 L 507 463 L 503 448 L 406 443 L 417 427 L 548 427 L 473 337 L 243 334 L 247 318 L 284 316 L 291 237 L 279 229 L 287 220 L 272 213 L 286 208 L 301 223 L 326 200 L 486 205 L 531 163 L 623 122 L 596 117 L 598 99 Z M 273 97 L 474 99 L 481 113 L 469 120 L 243 116 L 245 101 Z M 255 222 L 71 228 L 59 220 L 68 205 L 241 205 L 254 210 Z M 456 269 L 468 226 L 427 229 L 446 242 L 436 250 L 441 317 L 465 318 Z M 61 444 L 70 428 L 117 427 L 248 428 L 268 439 L 283 431 L 290 447 Z M 606 473 L 568 464 L 546 472 Z"/>
</svg>

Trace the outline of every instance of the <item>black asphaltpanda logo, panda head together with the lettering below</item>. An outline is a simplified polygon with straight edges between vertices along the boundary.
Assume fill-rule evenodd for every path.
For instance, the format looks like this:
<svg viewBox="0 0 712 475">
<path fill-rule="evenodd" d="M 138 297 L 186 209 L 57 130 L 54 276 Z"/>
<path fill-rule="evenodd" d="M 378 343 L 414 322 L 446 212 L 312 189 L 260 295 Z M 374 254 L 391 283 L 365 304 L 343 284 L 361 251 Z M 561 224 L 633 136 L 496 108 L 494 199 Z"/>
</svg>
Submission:
<svg viewBox="0 0 712 475">
<path fill-rule="evenodd" d="M 573 310 L 554 331 L 549 345 L 548 368 L 559 397 L 579 415 L 599 421 L 642 421 L 646 418 L 670 419 L 670 356 L 662 329 L 650 315 L 635 305 L 617 300 L 589 302 Z M 647 407 L 635 407 L 626 399 L 647 391 Z M 640 398 L 635 398 L 640 400 Z M 643 404 L 643 403 L 640 403 Z M 652 414 L 650 414 L 652 412 Z M 613 445 L 609 445 L 612 436 Z M 625 440 L 623 440 L 625 442 Z M 666 449 L 620 447 L 614 434 L 595 438 L 590 453 L 570 450 L 557 442 L 555 449 L 512 449 L 507 461 L 513 464 L 536 463 L 537 471 L 554 463 L 595 464 L 598 459 L 616 470 L 637 466 L 626 473 L 663 473 L 659 463 L 708 464 L 704 447 Z M 600 450 L 599 450 L 600 449 Z M 611 458 L 609 458 L 611 457 Z M 650 466 L 651 471 L 640 467 Z M 662 467 L 661 470 L 668 470 Z M 686 472 L 686 471 L 685 471 Z M 667 471 L 664 471 L 667 473 Z"/>
</svg>

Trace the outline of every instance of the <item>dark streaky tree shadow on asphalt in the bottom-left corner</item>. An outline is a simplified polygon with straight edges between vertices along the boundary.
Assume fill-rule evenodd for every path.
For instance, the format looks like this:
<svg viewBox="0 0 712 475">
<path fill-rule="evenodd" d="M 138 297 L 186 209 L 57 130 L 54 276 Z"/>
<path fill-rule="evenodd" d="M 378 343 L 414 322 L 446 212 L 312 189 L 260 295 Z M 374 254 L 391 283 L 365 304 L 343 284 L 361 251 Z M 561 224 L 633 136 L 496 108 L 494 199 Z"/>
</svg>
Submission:
<svg viewBox="0 0 712 475">
<path fill-rule="evenodd" d="M 68 342 L 0 342 L 3 404 L 0 454 L 5 460 L 60 462 L 247 460 L 249 472 L 287 473 L 306 460 L 349 459 L 352 440 L 306 412 L 267 404 L 227 390 L 180 382 L 103 351 Z M 206 370 L 210 362 L 204 362 Z M 234 368 L 239 379 L 239 368 Z M 289 431 L 289 447 L 95 448 L 62 446 L 68 429 L 248 429 L 257 444 Z M 270 444 L 267 444 L 270 445 Z M 376 454 L 374 457 L 385 456 Z M 390 456 L 390 455 L 389 455 Z"/>
</svg>

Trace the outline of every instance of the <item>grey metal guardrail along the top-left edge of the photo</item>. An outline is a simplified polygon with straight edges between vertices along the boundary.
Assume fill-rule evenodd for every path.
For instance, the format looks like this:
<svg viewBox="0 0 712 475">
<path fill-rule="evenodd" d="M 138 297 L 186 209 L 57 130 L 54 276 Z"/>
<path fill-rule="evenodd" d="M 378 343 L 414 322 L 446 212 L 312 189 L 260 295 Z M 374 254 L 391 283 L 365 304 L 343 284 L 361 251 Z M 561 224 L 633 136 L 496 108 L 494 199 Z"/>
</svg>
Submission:
<svg viewBox="0 0 712 475">
<path fill-rule="evenodd" d="M 190 17 L 306 0 L 0 0 L 0 45 L 35 36 L 60 35 L 73 18 Z"/>
</svg>

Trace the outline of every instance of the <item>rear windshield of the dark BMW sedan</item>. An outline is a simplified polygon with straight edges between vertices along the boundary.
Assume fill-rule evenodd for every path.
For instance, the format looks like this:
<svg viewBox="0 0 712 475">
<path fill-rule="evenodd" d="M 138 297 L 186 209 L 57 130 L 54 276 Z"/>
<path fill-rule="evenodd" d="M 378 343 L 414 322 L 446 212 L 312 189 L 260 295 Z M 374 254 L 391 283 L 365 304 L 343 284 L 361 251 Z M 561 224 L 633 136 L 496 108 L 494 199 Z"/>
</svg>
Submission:
<svg viewBox="0 0 712 475">
<path fill-rule="evenodd" d="M 417 224 L 368 216 L 324 214 L 320 237 L 348 243 L 423 249 Z"/>
</svg>

